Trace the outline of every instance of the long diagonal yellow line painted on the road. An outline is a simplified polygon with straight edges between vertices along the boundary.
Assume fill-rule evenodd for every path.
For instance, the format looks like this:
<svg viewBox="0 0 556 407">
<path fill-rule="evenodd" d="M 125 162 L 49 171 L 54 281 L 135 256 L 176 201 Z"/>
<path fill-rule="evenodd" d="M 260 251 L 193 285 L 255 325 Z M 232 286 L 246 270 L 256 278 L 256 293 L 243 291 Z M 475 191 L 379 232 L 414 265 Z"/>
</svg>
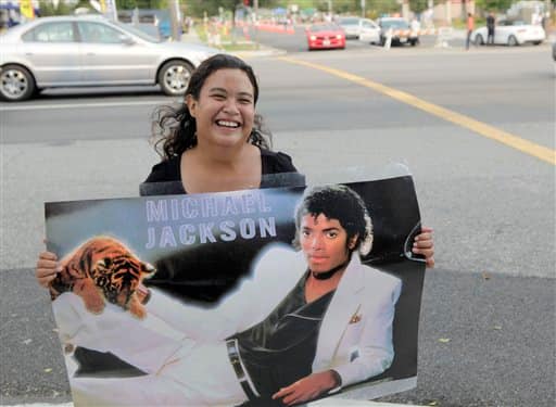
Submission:
<svg viewBox="0 0 556 407">
<path fill-rule="evenodd" d="M 556 151 L 548 149 L 543 145 L 539 145 L 529 140 L 522 139 L 520 137 L 514 136 L 507 131 L 497 129 L 496 127 L 490 126 L 482 122 L 476 120 L 463 114 L 456 113 L 448 109 L 441 107 L 439 105 L 429 103 L 422 99 L 416 98 L 413 94 L 406 93 L 404 91 L 390 88 L 388 86 L 375 82 L 372 80 L 365 79 L 361 76 L 353 75 L 346 73 L 344 71 L 334 69 L 328 66 L 314 64 L 311 62 L 300 61 L 289 56 L 281 56 L 279 60 L 289 62 L 292 64 L 307 66 L 314 69 L 323 71 L 328 74 L 338 76 L 340 78 L 350 80 L 352 82 L 365 86 L 367 88 L 374 89 L 377 92 L 386 94 L 392 99 L 399 100 L 400 102 L 409 104 L 414 107 L 420 109 L 427 113 L 430 113 L 434 116 L 438 116 L 444 120 L 452 122 L 462 127 L 468 128 L 471 131 L 475 131 L 483 137 L 486 137 L 491 140 L 498 141 L 503 144 L 509 145 L 516 150 L 519 150 L 526 154 L 532 155 L 536 158 L 545 161 L 549 164 L 556 165 Z"/>
</svg>

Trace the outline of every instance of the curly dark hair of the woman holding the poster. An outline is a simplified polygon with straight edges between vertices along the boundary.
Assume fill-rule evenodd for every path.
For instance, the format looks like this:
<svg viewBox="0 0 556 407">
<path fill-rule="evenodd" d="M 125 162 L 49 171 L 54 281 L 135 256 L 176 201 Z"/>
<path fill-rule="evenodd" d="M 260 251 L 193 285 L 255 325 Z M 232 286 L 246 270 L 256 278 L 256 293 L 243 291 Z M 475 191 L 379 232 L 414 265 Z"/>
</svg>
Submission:
<svg viewBox="0 0 556 407">
<path fill-rule="evenodd" d="M 199 65 L 189 79 L 184 97 L 187 98 L 188 94 L 191 94 L 193 99 L 199 100 L 206 78 L 218 69 L 243 71 L 253 85 L 254 104 L 256 104 L 258 84 L 253 68 L 237 56 L 222 53 L 208 58 Z M 181 103 L 179 106 L 159 106 L 154 110 L 151 118 L 154 149 L 163 161 L 179 156 L 184 151 L 197 145 L 197 123 L 186 103 Z M 248 142 L 269 150 L 270 141 L 271 133 L 265 128 L 263 117 L 255 114 Z"/>
</svg>

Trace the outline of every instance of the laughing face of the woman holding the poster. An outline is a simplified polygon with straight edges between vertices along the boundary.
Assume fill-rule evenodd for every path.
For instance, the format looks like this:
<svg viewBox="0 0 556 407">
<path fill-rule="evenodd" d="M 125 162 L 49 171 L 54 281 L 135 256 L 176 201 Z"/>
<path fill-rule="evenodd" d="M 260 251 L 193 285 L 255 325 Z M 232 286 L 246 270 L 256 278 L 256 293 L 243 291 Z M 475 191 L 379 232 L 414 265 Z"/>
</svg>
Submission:
<svg viewBox="0 0 556 407">
<path fill-rule="evenodd" d="M 204 81 L 199 99 L 188 96 L 200 145 L 233 147 L 244 143 L 255 117 L 254 89 L 241 69 L 218 69 Z"/>
</svg>

